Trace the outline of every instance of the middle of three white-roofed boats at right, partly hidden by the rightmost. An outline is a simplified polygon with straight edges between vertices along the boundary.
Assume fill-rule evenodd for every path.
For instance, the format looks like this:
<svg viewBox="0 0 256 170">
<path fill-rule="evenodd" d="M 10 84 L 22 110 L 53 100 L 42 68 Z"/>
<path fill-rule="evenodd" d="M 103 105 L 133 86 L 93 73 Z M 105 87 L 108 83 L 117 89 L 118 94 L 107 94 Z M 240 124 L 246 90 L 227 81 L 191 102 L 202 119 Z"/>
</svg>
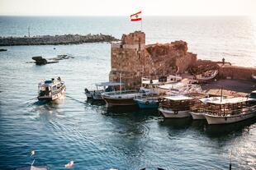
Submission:
<svg viewBox="0 0 256 170">
<path fill-rule="evenodd" d="M 206 119 L 205 114 L 206 114 L 208 103 L 211 101 L 218 101 L 221 98 L 223 99 L 223 97 L 209 97 L 209 98 L 198 99 L 197 103 L 190 108 L 190 113 L 192 115 L 192 118 L 194 120 Z"/>
</svg>

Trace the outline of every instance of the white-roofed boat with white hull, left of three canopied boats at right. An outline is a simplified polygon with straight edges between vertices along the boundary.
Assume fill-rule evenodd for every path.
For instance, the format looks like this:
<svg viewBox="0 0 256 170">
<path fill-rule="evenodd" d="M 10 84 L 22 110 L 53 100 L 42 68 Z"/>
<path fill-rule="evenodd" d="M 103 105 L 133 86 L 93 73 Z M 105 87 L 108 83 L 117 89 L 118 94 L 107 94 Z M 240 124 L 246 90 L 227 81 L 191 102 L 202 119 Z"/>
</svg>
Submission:
<svg viewBox="0 0 256 170">
<path fill-rule="evenodd" d="M 190 106 L 193 98 L 185 95 L 167 96 L 159 105 L 159 111 L 166 118 L 190 117 Z"/>
</svg>

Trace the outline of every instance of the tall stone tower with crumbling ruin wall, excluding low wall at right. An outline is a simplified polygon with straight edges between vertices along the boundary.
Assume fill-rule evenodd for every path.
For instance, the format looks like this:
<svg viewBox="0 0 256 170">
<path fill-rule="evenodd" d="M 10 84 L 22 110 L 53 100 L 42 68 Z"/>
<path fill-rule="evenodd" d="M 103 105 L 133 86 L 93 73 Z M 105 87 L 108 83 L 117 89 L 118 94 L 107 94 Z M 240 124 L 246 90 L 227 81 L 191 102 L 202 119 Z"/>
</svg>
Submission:
<svg viewBox="0 0 256 170">
<path fill-rule="evenodd" d="M 187 53 L 187 43 L 145 45 L 145 33 L 123 34 L 120 43 L 111 44 L 111 72 L 109 80 L 130 87 L 140 85 L 141 76 L 163 76 L 183 73 L 197 61 L 197 54 Z"/>
</svg>

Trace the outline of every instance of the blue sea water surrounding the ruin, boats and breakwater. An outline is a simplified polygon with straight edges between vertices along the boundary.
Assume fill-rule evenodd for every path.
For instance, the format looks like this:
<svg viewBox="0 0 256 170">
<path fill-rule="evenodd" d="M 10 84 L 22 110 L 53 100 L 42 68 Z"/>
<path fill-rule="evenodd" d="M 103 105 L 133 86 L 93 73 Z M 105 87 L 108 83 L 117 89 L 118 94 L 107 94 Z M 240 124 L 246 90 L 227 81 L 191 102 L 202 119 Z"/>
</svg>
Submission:
<svg viewBox="0 0 256 170">
<path fill-rule="evenodd" d="M 140 30 L 129 17 L 0 17 L 0 36 L 112 34 Z M 249 17 L 148 16 L 146 43 L 183 39 L 201 59 L 256 67 L 255 22 Z M 64 169 L 256 168 L 256 120 L 208 126 L 190 119 L 164 120 L 157 110 L 107 108 L 86 100 L 84 88 L 108 80 L 110 44 L 12 46 L 0 52 L 0 169 L 47 165 Z M 31 57 L 74 58 L 36 66 Z M 54 103 L 36 99 L 40 79 L 60 76 L 66 95 Z M 31 150 L 35 156 L 31 157 Z"/>
</svg>

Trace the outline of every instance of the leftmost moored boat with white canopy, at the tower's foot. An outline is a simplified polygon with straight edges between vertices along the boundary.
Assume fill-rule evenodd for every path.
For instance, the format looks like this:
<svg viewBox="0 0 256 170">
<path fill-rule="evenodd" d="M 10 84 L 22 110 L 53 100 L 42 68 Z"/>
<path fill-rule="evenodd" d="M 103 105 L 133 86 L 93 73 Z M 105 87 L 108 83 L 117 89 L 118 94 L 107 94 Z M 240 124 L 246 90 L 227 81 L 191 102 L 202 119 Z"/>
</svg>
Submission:
<svg viewBox="0 0 256 170">
<path fill-rule="evenodd" d="M 95 85 L 96 85 L 96 90 L 88 90 L 87 88 L 84 89 L 88 99 L 103 100 L 102 93 L 114 91 L 116 86 L 120 86 L 123 84 L 118 82 L 102 82 L 102 83 L 97 83 Z"/>
</svg>

